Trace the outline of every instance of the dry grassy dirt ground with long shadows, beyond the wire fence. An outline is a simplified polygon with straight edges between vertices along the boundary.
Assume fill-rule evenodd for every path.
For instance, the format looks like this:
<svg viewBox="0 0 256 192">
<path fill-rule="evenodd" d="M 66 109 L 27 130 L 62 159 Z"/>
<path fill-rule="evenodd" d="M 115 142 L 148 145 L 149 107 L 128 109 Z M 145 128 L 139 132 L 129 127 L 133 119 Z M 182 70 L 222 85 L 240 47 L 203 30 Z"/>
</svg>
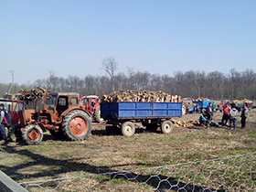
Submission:
<svg viewBox="0 0 256 192">
<path fill-rule="evenodd" d="M 186 114 L 176 120 L 197 120 L 200 114 Z M 222 113 L 215 112 L 220 122 Z M 114 170 L 176 165 L 240 155 L 256 151 L 256 109 L 245 129 L 201 126 L 177 127 L 170 134 L 150 133 L 143 126 L 132 137 L 107 135 L 104 125 L 94 124 L 83 142 L 55 140 L 45 133 L 38 145 L 0 145 L 0 169 L 18 182 L 65 176 L 81 176 Z"/>
</svg>

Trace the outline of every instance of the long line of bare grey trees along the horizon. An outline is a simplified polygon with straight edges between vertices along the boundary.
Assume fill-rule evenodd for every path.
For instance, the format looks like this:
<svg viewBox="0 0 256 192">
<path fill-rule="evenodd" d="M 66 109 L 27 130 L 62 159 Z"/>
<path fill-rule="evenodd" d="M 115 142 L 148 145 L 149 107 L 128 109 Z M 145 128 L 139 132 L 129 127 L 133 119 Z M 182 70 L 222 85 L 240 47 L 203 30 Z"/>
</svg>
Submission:
<svg viewBox="0 0 256 192">
<path fill-rule="evenodd" d="M 35 80 L 30 84 L 0 83 L 0 97 L 10 91 L 11 86 L 11 93 L 41 86 L 51 92 L 79 92 L 81 96 L 95 94 L 101 97 L 112 91 L 148 90 L 165 91 L 172 95 L 181 95 L 182 98 L 256 99 L 256 73 L 253 69 L 242 72 L 230 69 L 229 74 L 219 71 L 176 71 L 173 76 L 151 74 L 147 71 L 135 72 L 130 68 L 126 73 L 115 72 L 116 68 L 111 73 L 106 72 L 106 75 L 87 75 L 84 78 L 62 78 L 50 72 L 47 79 Z"/>
</svg>

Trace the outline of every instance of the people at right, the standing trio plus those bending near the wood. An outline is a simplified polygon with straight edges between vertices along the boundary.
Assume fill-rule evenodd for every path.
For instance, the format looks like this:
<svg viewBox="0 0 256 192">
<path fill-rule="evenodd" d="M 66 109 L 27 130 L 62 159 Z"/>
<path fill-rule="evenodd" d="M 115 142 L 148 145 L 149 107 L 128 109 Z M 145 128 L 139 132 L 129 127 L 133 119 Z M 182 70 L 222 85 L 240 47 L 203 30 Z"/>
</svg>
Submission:
<svg viewBox="0 0 256 192">
<path fill-rule="evenodd" d="M 221 125 L 222 126 L 229 126 L 229 129 L 236 128 L 237 123 L 238 123 L 238 117 L 240 114 L 240 123 L 241 123 L 241 129 L 245 128 L 246 124 L 246 119 L 248 116 L 249 109 L 247 107 L 247 103 L 243 103 L 243 107 L 241 109 L 241 114 L 240 114 L 240 109 L 238 109 L 237 104 L 235 103 L 229 103 L 227 102 L 225 106 L 223 107 L 223 115 L 221 119 Z M 212 109 L 212 104 L 209 102 L 208 107 L 206 111 L 202 112 L 202 114 L 199 117 L 199 123 L 200 125 L 204 124 L 207 126 L 211 122 L 213 115 L 213 109 Z M 229 125 L 228 125 L 229 122 Z"/>
</svg>

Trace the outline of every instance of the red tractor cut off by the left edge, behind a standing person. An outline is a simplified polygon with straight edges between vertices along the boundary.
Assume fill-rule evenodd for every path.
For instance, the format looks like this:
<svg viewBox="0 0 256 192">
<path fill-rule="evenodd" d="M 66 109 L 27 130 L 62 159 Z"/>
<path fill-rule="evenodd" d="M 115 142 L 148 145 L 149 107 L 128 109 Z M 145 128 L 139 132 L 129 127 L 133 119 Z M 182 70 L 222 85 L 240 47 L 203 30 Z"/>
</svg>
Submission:
<svg viewBox="0 0 256 192">
<path fill-rule="evenodd" d="M 17 128 L 21 128 L 20 119 L 19 119 L 19 111 L 24 111 L 26 109 L 25 101 L 16 101 L 16 100 L 0 100 L 0 103 L 3 103 L 5 106 L 5 110 L 8 112 L 9 120 L 6 130 L 6 136 L 10 135 L 20 135 L 20 132 Z M 15 132 L 16 131 L 16 132 Z M 16 141 L 15 137 L 10 137 L 12 141 Z"/>
</svg>

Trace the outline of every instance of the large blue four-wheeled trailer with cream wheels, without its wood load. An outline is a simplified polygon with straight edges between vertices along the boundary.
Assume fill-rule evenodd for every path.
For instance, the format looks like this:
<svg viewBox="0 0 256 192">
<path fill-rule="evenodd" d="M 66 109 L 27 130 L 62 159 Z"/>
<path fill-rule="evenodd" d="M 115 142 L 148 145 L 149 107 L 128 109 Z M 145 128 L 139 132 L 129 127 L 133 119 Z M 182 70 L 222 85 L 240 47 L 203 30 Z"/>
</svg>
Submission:
<svg viewBox="0 0 256 192">
<path fill-rule="evenodd" d="M 182 115 L 182 102 L 102 102 L 101 118 L 107 121 L 106 131 L 121 130 L 123 135 L 135 133 L 134 123 L 142 123 L 146 129 L 162 133 L 172 131 L 171 117 Z"/>
</svg>

